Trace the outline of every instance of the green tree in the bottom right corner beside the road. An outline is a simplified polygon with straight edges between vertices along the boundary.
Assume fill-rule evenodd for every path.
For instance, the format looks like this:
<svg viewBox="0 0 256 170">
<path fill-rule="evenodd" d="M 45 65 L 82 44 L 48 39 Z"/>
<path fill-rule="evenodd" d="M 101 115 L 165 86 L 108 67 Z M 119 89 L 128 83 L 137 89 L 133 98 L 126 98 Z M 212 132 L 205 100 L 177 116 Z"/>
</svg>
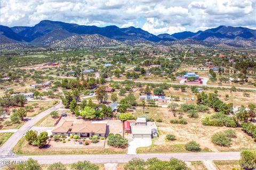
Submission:
<svg viewBox="0 0 256 170">
<path fill-rule="evenodd" d="M 249 150 L 242 151 L 239 164 L 243 169 L 256 169 L 256 152 Z"/>
</svg>

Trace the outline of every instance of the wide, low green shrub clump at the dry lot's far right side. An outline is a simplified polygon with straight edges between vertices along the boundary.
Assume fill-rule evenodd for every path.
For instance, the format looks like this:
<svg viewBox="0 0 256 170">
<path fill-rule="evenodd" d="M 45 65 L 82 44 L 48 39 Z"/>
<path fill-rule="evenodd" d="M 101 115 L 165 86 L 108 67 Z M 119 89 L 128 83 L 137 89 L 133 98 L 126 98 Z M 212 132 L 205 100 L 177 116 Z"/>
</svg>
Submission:
<svg viewBox="0 0 256 170">
<path fill-rule="evenodd" d="M 236 121 L 233 117 L 222 113 L 205 117 L 202 124 L 206 126 L 226 126 L 231 128 L 237 127 Z"/>
</svg>

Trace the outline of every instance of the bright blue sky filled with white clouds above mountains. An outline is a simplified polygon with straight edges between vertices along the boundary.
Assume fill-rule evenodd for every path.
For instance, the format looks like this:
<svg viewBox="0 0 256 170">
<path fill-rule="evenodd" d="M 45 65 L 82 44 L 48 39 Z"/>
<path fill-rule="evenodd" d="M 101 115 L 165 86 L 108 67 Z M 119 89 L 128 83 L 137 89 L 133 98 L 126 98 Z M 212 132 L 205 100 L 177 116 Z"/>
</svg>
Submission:
<svg viewBox="0 0 256 170">
<path fill-rule="evenodd" d="M 219 25 L 256 29 L 256 0 L 0 0 L 0 24 L 34 26 L 42 20 L 139 27 L 175 33 Z"/>
</svg>

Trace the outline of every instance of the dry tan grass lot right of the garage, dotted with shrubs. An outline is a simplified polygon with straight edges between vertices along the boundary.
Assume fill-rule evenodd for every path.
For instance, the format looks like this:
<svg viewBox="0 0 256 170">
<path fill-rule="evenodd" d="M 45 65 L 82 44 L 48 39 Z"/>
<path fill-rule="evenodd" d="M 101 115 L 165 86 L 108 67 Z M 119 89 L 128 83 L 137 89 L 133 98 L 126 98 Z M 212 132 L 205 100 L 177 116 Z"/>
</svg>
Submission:
<svg viewBox="0 0 256 170">
<path fill-rule="evenodd" d="M 148 113 L 147 113 L 148 112 Z M 210 113 L 213 111 L 210 110 Z M 136 109 L 135 116 L 143 115 L 142 108 Z M 184 146 L 188 141 L 194 140 L 201 146 L 201 151 L 240 151 L 242 149 L 256 149 L 256 144 L 253 139 L 245 134 L 240 128 L 226 128 L 216 126 L 202 125 L 202 119 L 211 114 L 199 113 L 198 118 L 189 118 L 187 113 L 182 116 L 186 118 L 188 124 L 171 124 L 171 119 L 178 119 L 178 116 L 173 116 L 168 108 L 148 108 L 145 107 L 145 115 L 157 118 L 162 118 L 163 122 L 156 122 L 158 126 L 159 137 L 153 139 L 153 145 L 150 147 L 137 149 L 138 153 L 149 152 L 187 152 Z M 216 146 L 211 142 L 211 137 L 214 133 L 233 129 L 236 132 L 237 138 L 233 139 L 230 147 Z M 167 134 L 174 134 L 177 140 L 166 140 Z"/>
</svg>

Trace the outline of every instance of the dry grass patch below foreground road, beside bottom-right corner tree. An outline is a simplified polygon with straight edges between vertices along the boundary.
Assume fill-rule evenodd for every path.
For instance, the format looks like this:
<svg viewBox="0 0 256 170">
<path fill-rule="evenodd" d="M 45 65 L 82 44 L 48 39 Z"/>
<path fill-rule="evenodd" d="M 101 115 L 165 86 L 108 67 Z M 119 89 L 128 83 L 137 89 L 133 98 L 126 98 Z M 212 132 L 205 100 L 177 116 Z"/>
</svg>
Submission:
<svg viewBox="0 0 256 170">
<path fill-rule="evenodd" d="M 232 168 L 241 168 L 239 165 L 239 160 L 218 160 L 213 161 L 213 163 L 218 170 L 231 170 Z"/>
</svg>

